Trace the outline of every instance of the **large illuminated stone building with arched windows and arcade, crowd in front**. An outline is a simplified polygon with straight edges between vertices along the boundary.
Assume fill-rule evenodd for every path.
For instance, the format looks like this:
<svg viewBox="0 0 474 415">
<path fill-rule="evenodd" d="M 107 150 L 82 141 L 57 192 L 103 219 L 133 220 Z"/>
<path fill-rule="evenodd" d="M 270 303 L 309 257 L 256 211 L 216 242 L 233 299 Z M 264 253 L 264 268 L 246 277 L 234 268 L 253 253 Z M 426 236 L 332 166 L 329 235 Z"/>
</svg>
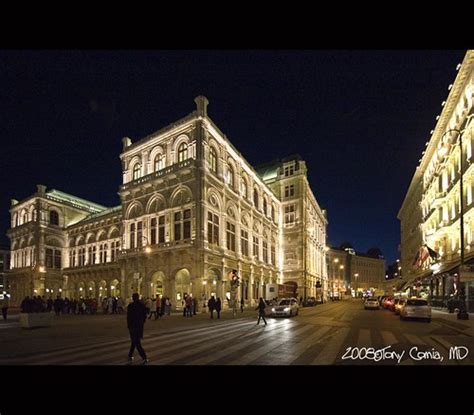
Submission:
<svg viewBox="0 0 474 415">
<path fill-rule="evenodd" d="M 327 220 L 305 162 L 288 157 L 254 169 L 197 109 L 141 140 L 124 138 L 121 204 L 106 208 L 38 185 L 12 200 L 12 301 L 25 295 L 129 298 L 163 294 L 180 307 L 228 298 L 255 304 L 268 283 L 298 296 L 326 287 Z M 223 301 L 224 304 L 226 303 Z"/>
</svg>

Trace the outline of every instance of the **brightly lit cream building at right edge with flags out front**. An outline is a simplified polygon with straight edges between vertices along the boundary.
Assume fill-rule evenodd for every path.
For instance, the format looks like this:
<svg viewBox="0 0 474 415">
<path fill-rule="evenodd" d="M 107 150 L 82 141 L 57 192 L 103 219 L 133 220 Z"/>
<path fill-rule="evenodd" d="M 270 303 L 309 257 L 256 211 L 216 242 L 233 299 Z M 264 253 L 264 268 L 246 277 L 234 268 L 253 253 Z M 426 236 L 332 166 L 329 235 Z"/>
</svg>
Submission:
<svg viewBox="0 0 474 415">
<path fill-rule="evenodd" d="M 428 296 L 434 305 L 446 305 L 460 289 L 461 219 L 465 263 L 469 268 L 474 262 L 474 51 L 466 53 L 457 69 L 398 213 L 403 276 L 398 289 Z M 461 283 L 473 309 L 471 275 L 461 272 Z"/>
</svg>

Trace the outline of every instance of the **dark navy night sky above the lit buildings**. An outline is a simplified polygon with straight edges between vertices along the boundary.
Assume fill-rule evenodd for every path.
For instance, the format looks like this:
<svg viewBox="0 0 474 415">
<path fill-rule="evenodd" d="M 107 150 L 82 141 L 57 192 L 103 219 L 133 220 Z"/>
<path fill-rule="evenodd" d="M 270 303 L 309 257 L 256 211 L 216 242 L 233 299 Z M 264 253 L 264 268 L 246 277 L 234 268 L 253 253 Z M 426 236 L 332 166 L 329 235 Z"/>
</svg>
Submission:
<svg viewBox="0 0 474 415">
<path fill-rule="evenodd" d="M 0 51 L 0 242 L 45 184 L 118 205 L 119 154 L 209 99 L 252 165 L 300 153 L 332 245 L 398 257 L 398 210 L 464 50 Z"/>
</svg>

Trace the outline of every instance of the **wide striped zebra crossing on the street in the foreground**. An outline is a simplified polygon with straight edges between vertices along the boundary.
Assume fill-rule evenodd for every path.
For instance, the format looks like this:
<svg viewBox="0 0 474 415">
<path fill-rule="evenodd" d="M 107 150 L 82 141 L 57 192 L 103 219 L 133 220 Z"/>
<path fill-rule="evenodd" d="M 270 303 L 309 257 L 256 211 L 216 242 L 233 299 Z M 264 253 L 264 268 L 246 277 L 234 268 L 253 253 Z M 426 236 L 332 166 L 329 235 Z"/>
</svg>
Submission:
<svg viewBox="0 0 474 415">
<path fill-rule="evenodd" d="M 396 353 L 417 346 L 447 353 L 445 349 L 453 346 L 441 336 L 379 331 L 334 322 L 275 319 L 267 326 L 255 323 L 255 320 L 242 319 L 154 332 L 145 335 L 142 344 L 150 365 L 372 364 L 373 361 L 364 359 L 344 359 L 344 355 L 348 348 L 386 348 Z M 113 341 L 2 359 L 0 364 L 125 365 L 128 364 L 129 342 L 127 336 L 122 336 Z M 399 362 L 388 359 L 381 363 L 412 365 L 417 362 L 405 353 Z"/>
</svg>

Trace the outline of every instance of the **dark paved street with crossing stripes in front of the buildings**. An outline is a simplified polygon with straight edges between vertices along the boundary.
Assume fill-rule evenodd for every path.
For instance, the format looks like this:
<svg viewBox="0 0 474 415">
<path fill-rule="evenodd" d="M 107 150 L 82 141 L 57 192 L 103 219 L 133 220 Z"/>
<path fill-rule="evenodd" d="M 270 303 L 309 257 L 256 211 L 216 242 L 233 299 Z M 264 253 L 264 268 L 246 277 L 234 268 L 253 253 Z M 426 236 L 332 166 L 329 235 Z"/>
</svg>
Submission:
<svg viewBox="0 0 474 415">
<path fill-rule="evenodd" d="M 150 365 L 474 363 L 472 318 L 460 322 L 438 311 L 431 323 L 400 321 L 390 311 L 364 310 L 361 301 L 348 300 L 302 308 L 291 319 L 268 318 L 267 326 L 256 319 L 248 310 L 235 319 L 226 311 L 220 320 L 207 314 L 147 320 L 142 344 Z M 129 338 L 125 315 L 60 316 L 53 327 L 33 330 L 19 328 L 13 315 L 0 322 L 0 344 L 1 365 L 125 365 Z M 453 346 L 473 352 L 450 359 Z M 133 364 L 140 360 L 136 353 Z"/>
</svg>

